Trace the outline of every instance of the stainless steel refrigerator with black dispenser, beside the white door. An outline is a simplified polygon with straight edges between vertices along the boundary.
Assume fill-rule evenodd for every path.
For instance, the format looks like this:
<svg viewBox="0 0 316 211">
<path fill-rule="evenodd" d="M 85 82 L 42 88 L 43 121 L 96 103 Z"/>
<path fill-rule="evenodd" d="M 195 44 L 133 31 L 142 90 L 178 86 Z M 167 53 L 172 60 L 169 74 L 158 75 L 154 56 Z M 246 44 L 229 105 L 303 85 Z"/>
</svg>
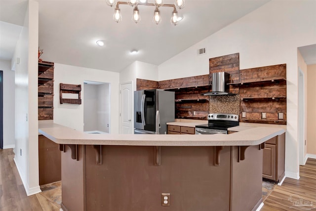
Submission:
<svg viewBox="0 0 316 211">
<path fill-rule="evenodd" d="M 134 92 L 135 134 L 166 134 L 167 122 L 174 122 L 174 91 Z"/>
</svg>

